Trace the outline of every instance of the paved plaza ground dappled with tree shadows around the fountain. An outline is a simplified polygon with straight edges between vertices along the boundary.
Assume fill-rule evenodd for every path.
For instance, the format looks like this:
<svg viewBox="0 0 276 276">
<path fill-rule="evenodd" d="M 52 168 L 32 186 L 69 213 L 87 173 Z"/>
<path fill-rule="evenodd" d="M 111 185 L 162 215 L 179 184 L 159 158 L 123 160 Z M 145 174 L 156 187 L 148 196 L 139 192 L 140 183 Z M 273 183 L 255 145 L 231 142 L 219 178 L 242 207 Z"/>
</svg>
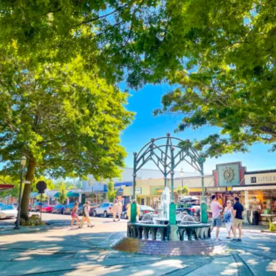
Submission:
<svg viewBox="0 0 276 276">
<path fill-rule="evenodd" d="M 244 230 L 242 243 L 220 237 L 223 255 L 165 257 L 121 253 L 112 244 L 126 235 L 126 220 L 91 217 L 94 227 L 70 227 L 70 215 L 42 214 L 52 224 L 37 233 L 0 236 L 0 270 L 12 275 L 275 275 L 275 235 Z M 8 224 L 0 221 L 0 224 Z M 10 221 L 12 224 L 12 221 Z M 10 227 L 10 226 L 8 226 Z"/>
</svg>

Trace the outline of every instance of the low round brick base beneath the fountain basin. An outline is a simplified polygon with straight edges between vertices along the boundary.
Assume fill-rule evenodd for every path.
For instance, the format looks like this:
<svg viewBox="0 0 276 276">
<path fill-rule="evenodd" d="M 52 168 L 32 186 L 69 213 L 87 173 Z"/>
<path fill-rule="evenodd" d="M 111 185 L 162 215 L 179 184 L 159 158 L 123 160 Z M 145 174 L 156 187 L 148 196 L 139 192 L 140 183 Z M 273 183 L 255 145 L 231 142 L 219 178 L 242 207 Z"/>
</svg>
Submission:
<svg viewBox="0 0 276 276">
<path fill-rule="evenodd" d="M 214 239 L 202 239 L 193 241 L 152 241 L 125 237 L 114 248 L 116 250 L 141 253 L 148 255 L 215 255 L 223 254 L 226 246 Z"/>
</svg>

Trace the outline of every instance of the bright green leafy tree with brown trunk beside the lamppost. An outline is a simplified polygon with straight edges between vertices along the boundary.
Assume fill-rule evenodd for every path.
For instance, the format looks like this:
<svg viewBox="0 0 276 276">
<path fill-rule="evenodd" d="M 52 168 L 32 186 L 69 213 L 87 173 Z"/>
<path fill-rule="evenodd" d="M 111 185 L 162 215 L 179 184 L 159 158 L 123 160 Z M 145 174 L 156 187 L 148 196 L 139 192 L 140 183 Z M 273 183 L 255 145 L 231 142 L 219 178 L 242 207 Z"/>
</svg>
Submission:
<svg viewBox="0 0 276 276">
<path fill-rule="evenodd" d="M 9 51 L 9 49 L 7 50 Z M 14 52 L 12 52 L 14 54 Z M 118 177 L 126 152 L 119 135 L 132 119 L 126 93 L 83 69 L 81 57 L 70 63 L 35 64 L 2 55 L 0 81 L 0 161 L 14 175 L 26 155 L 26 180 Z M 21 217 L 28 219 L 30 184 L 23 190 Z"/>
</svg>

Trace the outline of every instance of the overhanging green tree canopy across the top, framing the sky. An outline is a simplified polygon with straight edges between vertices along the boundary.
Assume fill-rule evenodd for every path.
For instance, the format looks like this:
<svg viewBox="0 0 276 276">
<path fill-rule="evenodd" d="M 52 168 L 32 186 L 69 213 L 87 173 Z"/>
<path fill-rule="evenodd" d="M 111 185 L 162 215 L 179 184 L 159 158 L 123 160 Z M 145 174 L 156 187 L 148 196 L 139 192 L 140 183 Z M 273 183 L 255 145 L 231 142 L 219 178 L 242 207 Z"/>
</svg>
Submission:
<svg viewBox="0 0 276 276">
<path fill-rule="evenodd" d="M 178 131 L 221 128 L 195 143 L 206 155 L 276 149 L 275 1 L 2 1 L 0 11 L 0 44 L 19 55 L 81 55 L 135 88 L 179 83 L 155 114 L 184 115 Z"/>
</svg>

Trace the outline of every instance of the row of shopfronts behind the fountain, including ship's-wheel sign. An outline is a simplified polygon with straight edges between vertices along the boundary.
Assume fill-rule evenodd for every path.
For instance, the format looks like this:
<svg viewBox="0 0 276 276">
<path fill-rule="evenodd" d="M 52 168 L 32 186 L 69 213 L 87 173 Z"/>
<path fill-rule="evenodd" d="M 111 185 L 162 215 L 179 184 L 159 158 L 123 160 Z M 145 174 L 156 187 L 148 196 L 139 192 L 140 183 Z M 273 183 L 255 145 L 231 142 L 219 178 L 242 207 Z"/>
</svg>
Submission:
<svg viewBox="0 0 276 276">
<path fill-rule="evenodd" d="M 174 192 L 177 187 L 187 186 L 189 194 L 201 199 L 201 177 L 175 177 Z M 170 181 L 168 183 L 170 187 Z M 217 195 L 221 205 L 226 201 L 234 201 L 239 197 L 244 205 L 246 223 L 266 224 L 266 214 L 276 214 L 276 170 L 247 171 L 242 162 L 217 164 L 212 175 L 204 176 L 204 196 L 210 206 L 210 196 Z M 160 195 L 164 190 L 163 178 L 138 179 L 135 194 L 139 204 L 156 208 Z M 124 188 L 124 196 L 131 197 L 132 187 Z"/>
</svg>

